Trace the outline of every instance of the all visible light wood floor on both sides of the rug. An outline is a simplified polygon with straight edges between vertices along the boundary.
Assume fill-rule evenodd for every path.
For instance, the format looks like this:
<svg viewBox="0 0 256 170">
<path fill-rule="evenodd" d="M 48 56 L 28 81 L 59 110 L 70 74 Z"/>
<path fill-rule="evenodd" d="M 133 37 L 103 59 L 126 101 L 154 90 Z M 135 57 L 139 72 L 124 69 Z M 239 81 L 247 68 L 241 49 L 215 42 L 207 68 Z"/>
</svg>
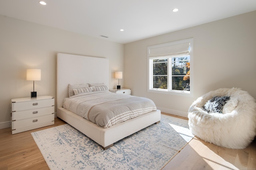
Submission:
<svg viewBox="0 0 256 170">
<path fill-rule="evenodd" d="M 49 170 L 30 133 L 63 124 L 64 121 L 55 118 L 54 125 L 15 135 L 10 128 L 0 129 L 0 170 Z M 239 150 L 217 147 L 195 137 L 162 170 L 225 169 L 256 170 L 256 140 L 246 149 Z"/>
</svg>

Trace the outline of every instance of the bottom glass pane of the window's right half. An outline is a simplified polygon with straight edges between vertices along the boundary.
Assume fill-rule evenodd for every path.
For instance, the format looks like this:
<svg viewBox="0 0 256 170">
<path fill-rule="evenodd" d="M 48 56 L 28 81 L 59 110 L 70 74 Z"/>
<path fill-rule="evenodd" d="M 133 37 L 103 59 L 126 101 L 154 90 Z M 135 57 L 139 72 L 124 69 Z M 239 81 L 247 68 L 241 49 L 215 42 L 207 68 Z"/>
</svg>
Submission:
<svg viewBox="0 0 256 170">
<path fill-rule="evenodd" d="M 184 77 L 186 77 L 184 80 Z M 189 76 L 174 76 L 172 77 L 172 90 L 186 90 L 190 91 Z"/>
</svg>

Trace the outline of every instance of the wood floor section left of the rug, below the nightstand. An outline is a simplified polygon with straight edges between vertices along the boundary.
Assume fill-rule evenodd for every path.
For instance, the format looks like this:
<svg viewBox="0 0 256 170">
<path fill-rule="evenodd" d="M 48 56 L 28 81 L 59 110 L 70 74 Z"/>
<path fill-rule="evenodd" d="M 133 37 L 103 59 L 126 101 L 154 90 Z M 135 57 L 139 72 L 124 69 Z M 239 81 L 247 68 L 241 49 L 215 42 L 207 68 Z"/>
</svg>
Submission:
<svg viewBox="0 0 256 170">
<path fill-rule="evenodd" d="M 0 129 L 0 170 L 49 170 L 31 132 L 66 124 L 55 118 L 54 125 L 12 135 L 11 128 Z"/>
</svg>

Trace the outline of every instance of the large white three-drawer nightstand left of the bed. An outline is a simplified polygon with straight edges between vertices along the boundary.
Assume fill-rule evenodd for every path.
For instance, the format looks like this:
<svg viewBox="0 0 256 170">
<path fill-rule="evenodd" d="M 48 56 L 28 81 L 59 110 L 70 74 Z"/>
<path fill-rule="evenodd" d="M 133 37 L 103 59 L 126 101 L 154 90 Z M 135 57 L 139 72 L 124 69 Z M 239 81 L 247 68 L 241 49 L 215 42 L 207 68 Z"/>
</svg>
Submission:
<svg viewBox="0 0 256 170">
<path fill-rule="evenodd" d="M 54 98 L 38 96 L 37 98 L 11 99 L 12 134 L 54 125 Z"/>
</svg>

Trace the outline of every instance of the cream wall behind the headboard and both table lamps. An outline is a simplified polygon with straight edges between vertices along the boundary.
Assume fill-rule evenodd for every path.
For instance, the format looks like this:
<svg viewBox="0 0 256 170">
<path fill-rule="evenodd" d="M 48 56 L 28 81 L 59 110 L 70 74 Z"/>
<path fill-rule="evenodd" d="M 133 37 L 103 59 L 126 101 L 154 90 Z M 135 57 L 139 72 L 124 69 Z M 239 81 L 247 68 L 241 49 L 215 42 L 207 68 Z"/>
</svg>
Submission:
<svg viewBox="0 0 256 170">
<path fill-rule="evenodd" d="M 41 81 L 35 81 L 37 95 L 56 98 L 57 53 L 108 58 L 109 87 L 118 84 L 114 72 L 123 71 L 123 44 L 0 15 L 0 129 L 10 126 L 10 99 L 30 97 L 27 68 L 42 70 Z"/>
</svg>

